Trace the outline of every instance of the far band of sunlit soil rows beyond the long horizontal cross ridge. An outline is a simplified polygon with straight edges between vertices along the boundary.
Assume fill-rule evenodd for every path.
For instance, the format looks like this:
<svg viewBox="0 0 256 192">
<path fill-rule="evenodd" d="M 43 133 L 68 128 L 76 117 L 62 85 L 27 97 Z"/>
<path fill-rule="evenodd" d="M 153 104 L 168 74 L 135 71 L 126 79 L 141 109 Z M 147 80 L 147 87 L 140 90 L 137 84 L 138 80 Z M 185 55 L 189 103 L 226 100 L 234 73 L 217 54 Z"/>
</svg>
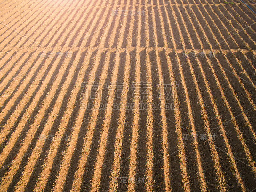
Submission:
<svg viewBox="0 0 256 192">
<path fill-rule="evenodd" d="M 62 2 L 63 3 L 63 2 Z M 196 3 L 196 2 L 193 2 Z M 34 3 L 35 4 L 35 3 Z M 147 25 L 152 26 L 153 20 L 166 20 L 167 15 L 169 18 L 177 17 L 177 23 L 171 23 L 173 29 L 170 29 L 167 22 L 163 21 L 163 28 L 157 31 L 158 44 L 149 41 L 149 47 L 164 47 L 163 36 L 170 34 L 170 30 L 179 30 L 184 38 L 185 49 L 256 49 L 256 16 L 251 14 L 247 10 L 244 4 L 233 4 L 233 5 L 209 5 L 209 4 L 151 4 L 151 5 L 122 5 L 116 6 L 98 6 L 98 7 L 76 7 L 76 5 L 85 4 L 83 2 L 77 2 L 72 4 L 69 8 L 54 8 L 51 7 L 59 6 L 61 2 L 42 2 L 36 5 L 30 5 L 31 9 L 17 10 L 15 14 L 12 11 L 4 9 L 1 11 L 2 17 L 1 29 L 0 29 L 0 47 L 88 47 L 88 46 L 99 46 L 99 39 L 103 35 L 102 31 L 106 34 L 114 33 L 114 23 L 111 21 L 119 20 L 118 25 L 121 25 L 122 20 L 126 20 L 124 23 L 125 33 L 128 32 L 127 27 L 130 26 L 131 19 L 136 23 L 139 17 L 145 20 L 148 17 L 148 23 L 142 22 L 140 33 L 132 37 L 132 45 L 136 47 L 145 47 L 145 41 L 136 43 L 136 36 L 140 34 L 140 39 L 145 39 L 145 33 L 143 31 Z M 68 3 L 67 3 L 68 4 Z M 87 3 L 90 4 L 90 3 Z M 94 3 L 95 4 L 95 3 Z M 91 5 L 94 5 L 91 3 Z M 28 6 L 28 5 L 27 5 Z M 41 9 L 36 9 L 37 7 Z M 43 9 L 43 7 L 47 9 Z M 166 9 L 166 11 L 164 11 Z M 151 15 L 154 14 L 154 18 Z M 181 14 L 181 15 L 180 15 Z M 89 17 L 92 15 L 92 17 Z M 108 21 L 99 23 L 100 20 L 93 20 L 93 18 L 102 17 L 108 15 Z M 207 26 L 203 23 L 203 31 L 211 30 L 211 34 L 207 34 L 205 37 L 201 28 L 198 28 L 196 19 L 200 17 L 211 18 L 207 23 Z M 20 18 L 17 20 L 17 18 Z M 190 18 L 190 20 L 188 19 Z M 95 23 L 96 22 L 96 23 Z M 172 21 L 171 21 L 172 22 Z M 181 25 L 182 22 L 182 25 Z M 193 23 L 191 23 L 193 22 Z M 201 19 L 200 19 L 201 22 Z M 27 23 L 24 25 L 23 23 Z M 108 31 L 106 28 L 111 25 Z M 156 23 L 158 29 L 160 23 Z M 192 25 L 195 25 L 194 27 Z M 153 27 L 153 26 L 152 26 Z M 90 30 L 92 28 L 92 30 Z M 137 25 L 134 25 L 137 28 Z M 151 28 L 151 27 L 150 27 Z M 187 28 L 191 31 L 192 43 L 188 40 Z M 158 29 L 159 30 L 159 29 Z M 100 33 L 99 33 L 100 32 Z M 139 31 L 138 31 L 139 32 Z M 239 32 L 239 33 L 238 33 Z M 150 35 L 149 30 L 149 35 Z M 196 36 L 198 34 L 198 36 Z M 117 35 L 117 34 L 116 34 Z M 174 44 L 168 38 L 167 47 L 182 49 L 180 36 L 177 37 L 167 35 L 170 38 L 174 38 Z M 209 37 L 208 37 L 209 36 Z M 153 37 L 153 36 L 152 36 Z M 116 37 L 117 38 L 117 37 Z M 103 47 L 117 47 L 117 39 L 114 39 L 113 43 L 109 40 L 105 42 Z M 208 38 L 208 42 L 205 38 Z M 94 39 L 94 41 L 92 41 Z M 199 44 L 199 41 L 202 44 Z M 125 38 L 121 40 L 121 45 L 118 48 L 127 47 Z M 3 49 L 3 48 L 2 48 Z M 2 50 L 1 49 L 1 50 Z"/>
</svg>

